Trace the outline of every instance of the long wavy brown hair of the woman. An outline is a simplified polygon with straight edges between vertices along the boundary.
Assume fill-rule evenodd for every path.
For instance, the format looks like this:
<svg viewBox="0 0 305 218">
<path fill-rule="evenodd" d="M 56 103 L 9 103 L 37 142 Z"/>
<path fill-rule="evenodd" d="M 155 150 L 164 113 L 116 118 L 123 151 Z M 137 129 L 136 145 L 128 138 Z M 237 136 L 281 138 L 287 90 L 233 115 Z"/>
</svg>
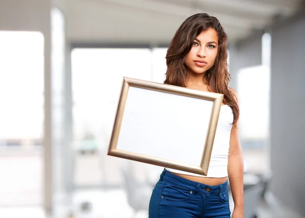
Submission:
<svg viewBox="0 0 305 218">
<path fill-rule="evenodd" d="M 188 79 L 185 65 L 186 56 L 192 48 L 194 39 L 209 28 L 214 29 L 218 35 L 218 54 L 214 65 L 204 73 L 203 79 L 207 82 L 208 91 L 224 95 L 223 103 L 229 105 L 233 111 L 233 125 L 239 118 L 237 98 L 229 90 L 231 75 L 227 63 L 228 37 L 219 20 L 205 13 L 195 14 L 187 18 L 176 31 L 166 53 L 166 79 L 165 84 L 186 87 Z"/>
</svg>

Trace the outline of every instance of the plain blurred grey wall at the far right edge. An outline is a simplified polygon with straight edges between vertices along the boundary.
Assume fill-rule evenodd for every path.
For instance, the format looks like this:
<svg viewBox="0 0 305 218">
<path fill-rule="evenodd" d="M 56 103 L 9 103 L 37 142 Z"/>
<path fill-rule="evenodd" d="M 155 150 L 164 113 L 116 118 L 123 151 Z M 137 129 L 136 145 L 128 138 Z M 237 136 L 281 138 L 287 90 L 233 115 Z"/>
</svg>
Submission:
<svg viewBox="0 0 305 218">
<path fill-rule="evenodd" d="M 305 216 L 305 16 L 272 28 L 271 170 L 275 196 Z"/>
</svg>

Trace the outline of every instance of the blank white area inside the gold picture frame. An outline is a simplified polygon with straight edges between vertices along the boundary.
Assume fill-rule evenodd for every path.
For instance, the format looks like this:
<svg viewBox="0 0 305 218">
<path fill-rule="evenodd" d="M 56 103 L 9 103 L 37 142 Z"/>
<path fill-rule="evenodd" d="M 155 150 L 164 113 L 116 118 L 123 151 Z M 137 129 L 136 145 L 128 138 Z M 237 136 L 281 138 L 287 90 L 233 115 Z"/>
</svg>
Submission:
<svg viewBox="0 0 305 218">
<path fill-rule="evenodd" d="M 200 166 L 212 105 L 129 87 L 116 148 Z"/>
</svg>

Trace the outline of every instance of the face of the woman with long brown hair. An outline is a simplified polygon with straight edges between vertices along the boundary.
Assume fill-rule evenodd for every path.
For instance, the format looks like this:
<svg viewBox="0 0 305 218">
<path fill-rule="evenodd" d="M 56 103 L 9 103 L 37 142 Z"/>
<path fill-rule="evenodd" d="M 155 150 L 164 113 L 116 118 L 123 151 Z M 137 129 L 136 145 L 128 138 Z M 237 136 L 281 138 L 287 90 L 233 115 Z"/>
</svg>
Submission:
<svg viewBox="0 0 305 218">
<path fill-rule="evenodd" d="M 215 63 L 218 53 L 217 32 L 209 28 L 202 31 L 193 41 L 193 46 L 186 57 L 188 73 L 204 73 Z"/>
</svg>

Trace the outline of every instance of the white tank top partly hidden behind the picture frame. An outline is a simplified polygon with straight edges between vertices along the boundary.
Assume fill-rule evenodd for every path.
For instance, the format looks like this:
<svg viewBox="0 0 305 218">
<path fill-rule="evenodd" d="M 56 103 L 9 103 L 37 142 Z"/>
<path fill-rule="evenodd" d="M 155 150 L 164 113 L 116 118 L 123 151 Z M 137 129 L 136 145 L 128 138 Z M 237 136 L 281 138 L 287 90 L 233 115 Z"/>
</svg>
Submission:
<svg viewBox="0 0 305 218">
<path fill-rule="evenodd" d="M 214 144 L 206 176 L 170 168 L 166 168 L 166 170 L 173 173 L 201 177 L 222 178 L 228 176 L 228 157 L 230 147 L 230 134 L 232 128 L 231 123 L 233 123 L 232 109 L 228 105 L 222 105 L 219 113 Z"/>
</svg>

